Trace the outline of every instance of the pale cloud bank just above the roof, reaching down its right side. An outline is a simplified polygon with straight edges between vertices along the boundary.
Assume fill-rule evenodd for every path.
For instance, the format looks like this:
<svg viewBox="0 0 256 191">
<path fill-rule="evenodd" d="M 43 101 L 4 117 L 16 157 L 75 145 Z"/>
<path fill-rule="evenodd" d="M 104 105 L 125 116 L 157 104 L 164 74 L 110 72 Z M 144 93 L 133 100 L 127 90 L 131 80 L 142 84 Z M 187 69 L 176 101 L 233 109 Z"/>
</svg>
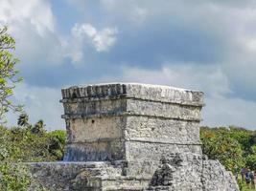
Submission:
<svg viewBox="0 0 256 191">
<path fill-rule="evenodd" d="M 256 102 L 228 96 L 233 93 L 229 87 L 228 78 L 220 67 L 198 64 L 188 66 L 184 63 L 165 66 L 157 71 L 127 67 L 114 79 L 203 91 L 206 103 L 202 110 L 203 125 L 237 125 L 255 129 Z M 112 76 L 105 76 L 101 79 L 105 82 L 112 80 Z"/>
</svg>

